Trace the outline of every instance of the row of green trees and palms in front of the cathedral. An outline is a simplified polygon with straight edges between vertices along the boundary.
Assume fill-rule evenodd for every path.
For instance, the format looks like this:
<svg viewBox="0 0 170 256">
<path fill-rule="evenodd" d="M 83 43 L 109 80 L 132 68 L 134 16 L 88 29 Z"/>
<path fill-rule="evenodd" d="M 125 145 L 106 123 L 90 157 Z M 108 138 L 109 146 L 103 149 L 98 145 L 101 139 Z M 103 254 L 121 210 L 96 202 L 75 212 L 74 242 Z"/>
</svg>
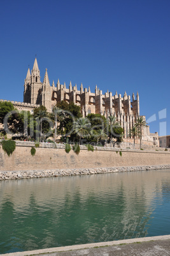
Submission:
<svg viewBox="0 0 170 256">
<path fill-rule="evenodd" d="M 136 137 L 141 138 L 141 129 L 146 125 L 145 120 L 141 120 L 141 124 L 138 121 L 129 131 L 129 137 L 134 138 L 134 144 Z M 56 141 L 60 136 L 61 141 L 69 140 L 73 144 L 104 145 L 107 142 L 111 146 L 115 142 L 120 143 L 124 136 L 124 129 L 115 117 L 105 118 L 93 113 L 82 117 L 80 106 L 73 102 L 68 104 L 66 101 L 57 103 L 52 113 L 48 113 L 45 106 L 35 108 L 33 113 L 17 111 L 10 102 L 1 102 L 0 122 L 4 124 L 4 134 L 10 132 L 13 138 L 34 139 L 39 142 L 49 137 Z"/>
</svg>

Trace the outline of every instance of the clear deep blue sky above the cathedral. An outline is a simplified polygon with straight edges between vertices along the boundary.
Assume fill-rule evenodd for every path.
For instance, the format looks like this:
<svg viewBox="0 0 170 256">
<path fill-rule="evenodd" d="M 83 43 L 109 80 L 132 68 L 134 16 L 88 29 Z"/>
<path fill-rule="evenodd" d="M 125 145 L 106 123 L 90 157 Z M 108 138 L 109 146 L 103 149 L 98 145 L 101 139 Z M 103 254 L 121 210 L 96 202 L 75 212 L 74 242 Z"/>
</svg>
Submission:
<svg viewBox="0 0 170 256">
<path fill-rule="evenodd" d="M 41 82 L 47 68 L 51 84 L 138 91 L 150 131 L 170 134 L 169 13 L 169 0 L 1 0 L 0 98 L 23 101 L 37 55 Z"/>
</svg>

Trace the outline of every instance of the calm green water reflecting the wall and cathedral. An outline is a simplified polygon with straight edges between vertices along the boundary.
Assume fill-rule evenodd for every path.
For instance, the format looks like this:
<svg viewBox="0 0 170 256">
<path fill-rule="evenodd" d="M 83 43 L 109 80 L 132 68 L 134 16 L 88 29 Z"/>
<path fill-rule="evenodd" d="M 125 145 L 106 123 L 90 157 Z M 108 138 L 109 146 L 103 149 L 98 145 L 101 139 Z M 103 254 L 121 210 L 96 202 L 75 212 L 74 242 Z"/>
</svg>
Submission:
<svg viewBox="0 0 170 256">
<path fill-rule="evenodd" d="M 0 253 L 170 234 L 170 169 L 0 182 Z"/>
</svg>

